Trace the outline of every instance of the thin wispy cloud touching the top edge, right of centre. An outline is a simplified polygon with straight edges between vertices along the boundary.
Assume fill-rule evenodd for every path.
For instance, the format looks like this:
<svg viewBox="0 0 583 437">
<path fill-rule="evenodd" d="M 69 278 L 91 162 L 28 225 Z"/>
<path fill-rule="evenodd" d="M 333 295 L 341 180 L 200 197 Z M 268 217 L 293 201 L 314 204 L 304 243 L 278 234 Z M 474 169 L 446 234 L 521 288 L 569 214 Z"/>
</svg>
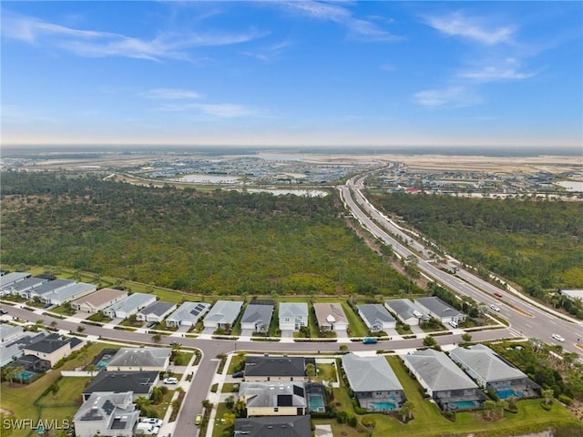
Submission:
<svg viewBox="0 0 583 437">
<path fill-rule="evenodd" d="M 274 2 L 273 5 L 279 5 L 296 14 L 307 16 L 312 19 L 331 21 L 343 25 L 349 31 L 350 35 L 365 39 L 368 41 L 395 41 L 401 39 L 395 36 L 372 21 L 359 19 L 353 16 L 353 13 L 340 3 L 327 4 L 315 1 L 289 1 Z"/>
</svg>

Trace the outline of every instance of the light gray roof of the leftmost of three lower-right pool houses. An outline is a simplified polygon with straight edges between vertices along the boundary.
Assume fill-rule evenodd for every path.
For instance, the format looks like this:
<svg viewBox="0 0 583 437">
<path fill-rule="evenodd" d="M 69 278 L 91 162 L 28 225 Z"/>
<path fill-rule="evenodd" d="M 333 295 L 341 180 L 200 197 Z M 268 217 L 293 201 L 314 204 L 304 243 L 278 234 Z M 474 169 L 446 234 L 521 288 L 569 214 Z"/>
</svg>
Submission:
<svg viewBox="0 0 583 437">
<path fill-rule="evenodd" d="M 343 355 L 343 369 L 353 391 L 403 390 L 393 369 L 383 356 Z"/>
</svg>

